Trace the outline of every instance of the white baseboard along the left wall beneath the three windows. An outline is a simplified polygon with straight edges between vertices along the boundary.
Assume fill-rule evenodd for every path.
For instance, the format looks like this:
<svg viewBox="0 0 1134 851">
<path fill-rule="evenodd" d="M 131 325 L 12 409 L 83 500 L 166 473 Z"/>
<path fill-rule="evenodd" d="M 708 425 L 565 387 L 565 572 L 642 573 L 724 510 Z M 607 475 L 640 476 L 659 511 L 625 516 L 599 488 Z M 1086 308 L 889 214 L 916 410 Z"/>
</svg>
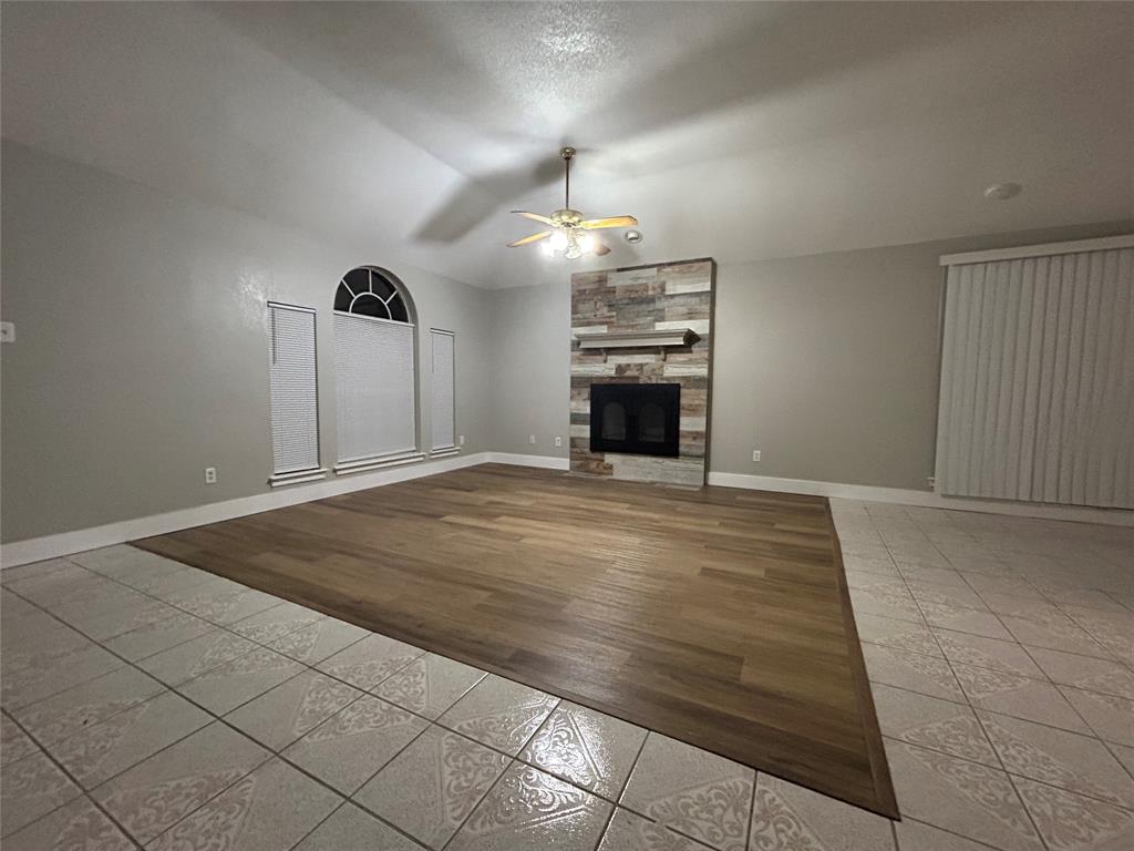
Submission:
<svg viewBox="0 0 1134 851">
<path fill-rule="evenodd" d="M 482 452 L 473 455 L 425 461 L 420 464 L 407 464 L 405 466 L 355 473 L 345 478 L 312 483 L 296 483 L 289 488 L 278 488 L 266 494 L 227 499 L 221 503 L 210 503 L 209 505 L 181 508 L 164 514 L 154 514 L 149 517 L 125 520 L 119 523 L 108 523 L 107 525 L 91 529 L 78 529 L 74 532 L 60 532 L 58 534 L 44 536 L 43 538 L 14 541 L 12 544 L 0 545 L 0 567 L 16 567 L 31 562 L 42 562 L 46 558 L 58 558 L 59 556 L 67 556 L 73 553 L 96 549 L 98 547 L 109 547 L 112 544 L 124 544 L 138 538 L 166 534 L 181 529 L 205 525 L 206 523 L 219 523 L 222 520 L 234 520 L 249 514 L 260 514 L 272 508 L 284 508 L 289 505 L 299 505 L 301 503 L 311 503 L 315 499 L 327 499 L 340 494 L 349 494 L 355 490 L 379 488 L 383 485 L 395 485 L 396 482 L 420 479 L 425 475 L 445 473 L 449 470 L 475 466 L 476 464 L 488 463 L 490 455 L 492 453 Z M 523 462 L 507 461 L 503 463 L 519 464 Z"/>
</svg>

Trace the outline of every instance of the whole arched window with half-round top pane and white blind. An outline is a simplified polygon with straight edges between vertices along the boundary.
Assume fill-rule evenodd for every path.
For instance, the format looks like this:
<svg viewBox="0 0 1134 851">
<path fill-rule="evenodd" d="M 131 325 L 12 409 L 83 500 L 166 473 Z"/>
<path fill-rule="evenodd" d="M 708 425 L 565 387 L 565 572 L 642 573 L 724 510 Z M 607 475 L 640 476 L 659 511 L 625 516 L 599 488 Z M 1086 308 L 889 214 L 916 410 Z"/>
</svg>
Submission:
<svg viewBox="0 0 1134 851">
<path fill-rule="evenodd" d="M 408 293 L 389 272 L 352 270 L 335 294 L 335 338 L 336 472 L 421 458 L 416 328 Z"/>
</svg>

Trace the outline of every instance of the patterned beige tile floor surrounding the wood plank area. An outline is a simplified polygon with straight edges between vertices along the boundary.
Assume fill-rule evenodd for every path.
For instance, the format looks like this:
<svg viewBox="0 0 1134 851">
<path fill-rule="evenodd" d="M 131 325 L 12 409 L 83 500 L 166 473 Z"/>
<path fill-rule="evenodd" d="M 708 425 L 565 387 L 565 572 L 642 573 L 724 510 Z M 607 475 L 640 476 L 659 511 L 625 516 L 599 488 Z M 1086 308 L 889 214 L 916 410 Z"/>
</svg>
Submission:
<svg viewBox="0 0 1134 851">
<path fill-rule="evenodd" d="M 832 509 L 900 823 L 118 546 L 0 575 L 0 841 L 1134 849 L 1134 530 Z"/>
</svg>

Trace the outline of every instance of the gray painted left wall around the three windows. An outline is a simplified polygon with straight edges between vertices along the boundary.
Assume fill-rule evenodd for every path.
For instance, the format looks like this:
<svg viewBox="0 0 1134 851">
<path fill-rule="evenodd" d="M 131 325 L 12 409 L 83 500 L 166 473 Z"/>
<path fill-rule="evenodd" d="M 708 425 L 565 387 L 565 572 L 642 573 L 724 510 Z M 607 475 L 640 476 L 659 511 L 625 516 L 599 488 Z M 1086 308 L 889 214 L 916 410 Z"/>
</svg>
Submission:
<svg viewBox="0 0 1134 851">
<path fill-rule="evenodd" d="M 5 541 L 265 491 L 269 300 L 319 310 L 320 449 L 332 464 L 331 303 L 363 263 L 392 266 L 414 297 L 420 399 L 431 398 L 424 329 L 456 331 L 457 431 L 466 453 L 488 448 L 484 290 L 16 143 L 2 167 L 0 311 L 16 323 L 2 351 Z"/>
</svg>

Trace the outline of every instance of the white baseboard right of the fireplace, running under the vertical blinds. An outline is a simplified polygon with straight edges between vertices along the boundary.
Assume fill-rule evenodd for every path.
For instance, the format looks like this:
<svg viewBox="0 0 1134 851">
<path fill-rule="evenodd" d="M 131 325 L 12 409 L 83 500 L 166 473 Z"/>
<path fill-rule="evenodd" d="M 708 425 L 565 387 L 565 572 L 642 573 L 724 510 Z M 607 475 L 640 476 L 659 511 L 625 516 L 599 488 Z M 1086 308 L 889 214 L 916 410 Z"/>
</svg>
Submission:
<svg viewBox="0 0 1134 851">
<path fill-rule="evenodd" d="M 777 490 L 781 494 L 807 494 L 838 499 L 861 499 L 869 503 L 895 503 L 923 508 L 949 508 L 962 512 L 1007 514 L 1016 517 L 1069 520 L 1077 523 L 1102 523 L 1114 526 L 1134 526 L 1134 512 L 1124 508 L 1088 508 L 1073 505 L 1043 505 L 1041 503 L 1013 503 L 1002 499 L 972 499 L 946 497 L 929 490 L 879 488 L 870 485 L 843 485 L 807 479 L 780 479 L 775 475 L 745 475 L 742 473 L 709 473 L 710 485 L 746 490 Z"/>
</svg>

